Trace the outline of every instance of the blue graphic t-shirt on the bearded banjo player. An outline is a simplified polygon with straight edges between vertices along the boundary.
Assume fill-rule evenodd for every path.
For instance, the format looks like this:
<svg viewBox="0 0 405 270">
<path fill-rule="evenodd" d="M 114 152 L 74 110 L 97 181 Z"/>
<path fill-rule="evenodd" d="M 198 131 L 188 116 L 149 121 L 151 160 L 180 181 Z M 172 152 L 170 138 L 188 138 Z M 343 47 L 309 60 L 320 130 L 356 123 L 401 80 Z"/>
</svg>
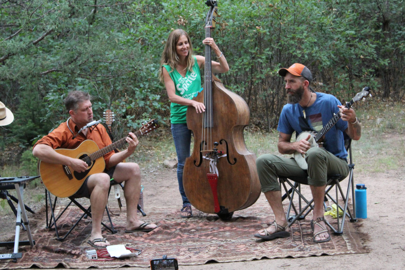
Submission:
<svg viewBox="0 0 405 270">
<path fill-rule="evenodd" d="M 277 130 L 282 133 L 300 134 L 303 131 L 320 131 L 334 116 L 339 113 L 340 101 L 333 95 L 316 92 L 315 102 L 303 108 L 298 103 L 284 105 Z M 304 114 L 305 112 L 305 114 Z M 306 120 L 305 120 L 306 117 Z M 343 132 L 347 122 L 339 119 L 325 134 L 324 148 L 340 159 L 347 158 Z"/>
</svg>

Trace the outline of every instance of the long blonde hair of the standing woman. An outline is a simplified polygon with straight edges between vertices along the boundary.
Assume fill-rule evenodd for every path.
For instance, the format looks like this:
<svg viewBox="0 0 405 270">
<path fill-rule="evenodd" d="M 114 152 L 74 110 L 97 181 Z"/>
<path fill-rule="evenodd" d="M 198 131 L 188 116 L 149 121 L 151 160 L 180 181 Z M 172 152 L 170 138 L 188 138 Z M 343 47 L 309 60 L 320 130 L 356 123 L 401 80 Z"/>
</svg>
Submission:
<svg viewBox="0 0 405 270">
<path fill-rule="evenodd" d="M 193 46 L 191 45 L 190 36 L 188 36 L 187 32 L 183 29 L 176 29 L 173 30 L 166 41 L 166 45 L 164 46 L 164 50 L 162 53 L 162 58 L 160 58 L 160 69 L 159 69 L 159 79 L 163 82 L 163 72 L 162 66 L 169 65 L 171 67 L 171 72 L 176 68 L 176 65 L 179 64 L 180 59 L 176 53 L 176 44 L 179 41 L 181 36 L 186 36 L 188 40 L 188 44 L 190 48 L 188 50 L 188 56 L 185 58 L 187 62 L 187 70 L 193 71 L 194 66 L 194 57 L 193 57 Z"/>
</svg>

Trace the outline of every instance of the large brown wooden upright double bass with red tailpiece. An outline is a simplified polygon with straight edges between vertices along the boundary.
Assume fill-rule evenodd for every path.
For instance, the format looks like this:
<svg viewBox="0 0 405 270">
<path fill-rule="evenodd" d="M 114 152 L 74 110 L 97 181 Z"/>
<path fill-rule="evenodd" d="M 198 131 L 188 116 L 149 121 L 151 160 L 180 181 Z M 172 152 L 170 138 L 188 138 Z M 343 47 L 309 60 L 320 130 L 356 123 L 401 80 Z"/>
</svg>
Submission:
<svg viewBox="0 0 405 270">
<path fill-rule="evenodd" d="M 217 3 L 210 7 L 205 22 L 205 37 L 215 27 Z M 254 204 L 260 196 L 256 155 L 245 145 L 243 129 L 249 124 L 245 100 L 224 87 L 212 74 L 211 47 L 205 45 L 203 92 L 193 100 L 204 103 L 205 112 L 187 109 L 187 126 L 194 134 L 194 149 L 186 159 L 183 186 L 190 203 L 200 211 L 230 219 L 236 210 Z"/>
</svg>

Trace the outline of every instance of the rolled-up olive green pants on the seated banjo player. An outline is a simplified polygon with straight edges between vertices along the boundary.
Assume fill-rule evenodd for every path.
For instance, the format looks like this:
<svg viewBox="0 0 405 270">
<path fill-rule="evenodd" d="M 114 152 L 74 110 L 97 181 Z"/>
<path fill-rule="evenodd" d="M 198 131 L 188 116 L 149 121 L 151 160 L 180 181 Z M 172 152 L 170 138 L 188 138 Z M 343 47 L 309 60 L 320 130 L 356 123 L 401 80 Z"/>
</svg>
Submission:
<svg viewBox="0 0 405 270">
<path fill-rule="evenodd" d="M 280 191 L 278 176 L 308 177 L 311 186 L 324 186 L 328 176 L 340 174 L 346 177 L 349 174 L 347 161 L 326 151 L 324 148 L 313 147 L 307 151 L 305 160 L 308 170 L 301 169 L 295 159 L 289 159 L 273 154 L 264 154 L 256 159 L 262 192 Z"/>
</svg>

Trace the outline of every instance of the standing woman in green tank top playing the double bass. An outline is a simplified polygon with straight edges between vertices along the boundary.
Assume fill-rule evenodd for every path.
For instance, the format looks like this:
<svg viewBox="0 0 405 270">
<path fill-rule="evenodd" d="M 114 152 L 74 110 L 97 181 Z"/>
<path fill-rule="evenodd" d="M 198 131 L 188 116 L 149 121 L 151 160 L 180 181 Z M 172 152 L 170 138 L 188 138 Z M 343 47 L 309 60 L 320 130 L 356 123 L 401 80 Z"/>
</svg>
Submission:
<svg viewBox="0 0 405 270">
<path fill-rule="evenodd" d="M 218 62 L 212 61 L 214 73 L 224 73 L 229 70 L 224 54 L 212 38 L 203 40 L 204 45 L 211 46 Z M 190 201 L 183 189 L 183 168 L 185 159 L 190 156 L 191 131 L 187 129 L 186 112 L 188 106 L 193 106 L 197 113 L 205 111 L 204 103 L 193 101 L 192 98 L 201 89 L 200 67 L 205 63 L 205 57 L 193 56 L 190 37 L 182 29 L 173 30 L 167 39 L 162 58 L 159 78 L 166 87 L 171 101 L 170 121 L 171 131 L 177 153 L 177 180 L 183 200 L 181 217 L 192 217 Z"/>
</svg>

